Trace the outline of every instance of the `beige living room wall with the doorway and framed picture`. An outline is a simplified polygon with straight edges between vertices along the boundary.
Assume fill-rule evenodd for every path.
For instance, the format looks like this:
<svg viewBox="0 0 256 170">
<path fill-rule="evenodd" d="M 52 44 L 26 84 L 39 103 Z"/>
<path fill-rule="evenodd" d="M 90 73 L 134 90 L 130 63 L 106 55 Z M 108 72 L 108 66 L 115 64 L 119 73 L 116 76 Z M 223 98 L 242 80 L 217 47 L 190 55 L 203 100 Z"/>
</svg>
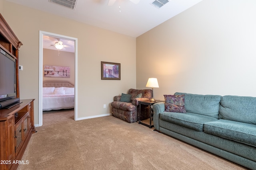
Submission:
<svg viewBox="0 0 256 170">
<path fill-rule="evenodd" d="M 136 39 L 4 1 L 20 48 L 20 96 L 35 98 L 38 124 L 39 31 L 78 38 L 78 118 L 110 113 L 113 97 L 136 88 Z M 101 80 L 100 61 L 121 63 L 121 80 Z M 103 104 L 107 108 L 103 108 Z"/>
</svg>

